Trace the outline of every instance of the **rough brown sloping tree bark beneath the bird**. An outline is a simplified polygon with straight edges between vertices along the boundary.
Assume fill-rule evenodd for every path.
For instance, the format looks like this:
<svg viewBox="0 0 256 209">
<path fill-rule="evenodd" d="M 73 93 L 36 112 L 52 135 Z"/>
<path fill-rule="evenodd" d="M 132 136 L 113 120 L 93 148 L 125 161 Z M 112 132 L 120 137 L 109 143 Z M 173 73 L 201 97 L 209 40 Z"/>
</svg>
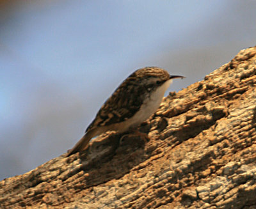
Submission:
<svg viewBox="0 0 256 209">
<path fill-rule="evenodd" d="M 103 135 L 0 182 L 0 208 L 256 208 L 256 47 L 164 98 L 135 134 Z"/>
</svg>

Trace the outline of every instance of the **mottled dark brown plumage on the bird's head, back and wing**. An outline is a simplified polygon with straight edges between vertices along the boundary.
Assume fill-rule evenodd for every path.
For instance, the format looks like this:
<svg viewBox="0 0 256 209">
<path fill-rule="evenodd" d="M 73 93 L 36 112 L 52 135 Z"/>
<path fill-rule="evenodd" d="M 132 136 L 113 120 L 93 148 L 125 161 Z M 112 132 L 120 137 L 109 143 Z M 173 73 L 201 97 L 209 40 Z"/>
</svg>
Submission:
<svg viewBox="0 0 256 209">
<path fill-rule="evenodd" d="M 148 79 L 153 77 L 159 79 L 157 83 L 148 82 Z M 98 126 L 119 123 L 131 118 L 140 109 L 145 97 L 149 97 L 148 93 L 154 91 L 169 77 L 168 72 L 161 68 L 146 67 L 136 70 L 106 100 L 86 132 Z"/>
</svg>

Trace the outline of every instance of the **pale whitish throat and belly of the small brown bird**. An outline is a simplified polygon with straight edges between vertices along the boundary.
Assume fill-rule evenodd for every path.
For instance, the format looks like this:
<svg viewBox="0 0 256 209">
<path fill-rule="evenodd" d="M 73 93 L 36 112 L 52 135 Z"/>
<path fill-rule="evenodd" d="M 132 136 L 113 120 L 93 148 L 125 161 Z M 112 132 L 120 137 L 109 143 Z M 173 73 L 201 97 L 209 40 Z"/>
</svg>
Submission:
<svg viewBox="0 0 256 209">
<path fill-rule="evenodd" d="M 157 88 L 156 91 L 152 92 L 150 97 L 144 101 L 143 105 L 141 105 L 140 110 L 136 112 L 132 118 L 122 122 L 122 128 L 120 127 L 120 129 L 122 129 L 122 131 L 126 131 L 130 127 L 136 127 L 143 121 L 147 120 L 154 112 L 156 112 L 163 100 L 164 93 L 170 84 L 172 84 L 172 79 L 164 82 L 162 86 Z"/>
</svg>

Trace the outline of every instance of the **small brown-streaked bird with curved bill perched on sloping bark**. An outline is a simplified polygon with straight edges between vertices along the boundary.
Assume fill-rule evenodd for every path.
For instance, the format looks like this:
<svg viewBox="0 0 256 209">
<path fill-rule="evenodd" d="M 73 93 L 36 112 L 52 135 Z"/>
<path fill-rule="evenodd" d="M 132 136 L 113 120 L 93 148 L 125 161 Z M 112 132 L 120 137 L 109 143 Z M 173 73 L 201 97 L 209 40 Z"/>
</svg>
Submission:
<svg viewBox="0 0 256 209">
<path fill-rule="evenodd" d="M 133 72 L 100 107 L 95 119 L 86 128 L 83 137 L 68 150 L 67 157 L 85 150 L 90 139 L 114 130 L 119 134 L 132 130 L 147 120 L 158 109 L 166 89 L 173 79 L 163 68 L 147 66 Z"/>
</svg>

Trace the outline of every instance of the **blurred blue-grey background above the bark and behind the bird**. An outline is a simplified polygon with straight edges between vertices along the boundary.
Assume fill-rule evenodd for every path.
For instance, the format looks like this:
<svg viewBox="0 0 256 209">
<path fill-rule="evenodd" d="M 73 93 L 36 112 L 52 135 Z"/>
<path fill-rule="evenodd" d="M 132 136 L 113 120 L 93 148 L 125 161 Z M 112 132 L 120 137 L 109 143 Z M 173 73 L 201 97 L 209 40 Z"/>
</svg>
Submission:
<svg viewBox="0 0 256 209">
<path fill-rule="evenodd" d="M 256 42 L 256 1 L 1 1 L 0 180 L 72 148 L 134 70 L 179 91 Z"/>
</svg>

